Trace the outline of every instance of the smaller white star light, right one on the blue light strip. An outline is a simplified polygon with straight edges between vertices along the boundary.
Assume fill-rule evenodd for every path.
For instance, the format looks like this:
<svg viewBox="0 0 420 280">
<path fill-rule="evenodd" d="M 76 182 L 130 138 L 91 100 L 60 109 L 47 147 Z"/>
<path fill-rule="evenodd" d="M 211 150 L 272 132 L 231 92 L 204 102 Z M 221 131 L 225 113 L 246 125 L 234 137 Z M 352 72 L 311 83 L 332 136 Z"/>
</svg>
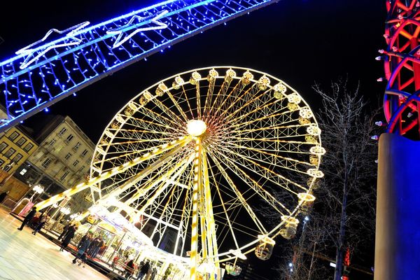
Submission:
<svg viewBox="0 0 420 280">
<path fill-rule="evenodd" d="M 165 29 L 168 27 L 168 25 L 164 22 L 159 22 L 158 20 L 162 18 L 165 14 L 167 14 L 167 10 L 163 10 L 161 13 L 158 13 L 157 15 L 151 15 L 146 18 L 143 18 L 139 15 L 133 15 L 132 18 L 127 22 L 127 25 L 124 25 L 123 27 L 120 27 L 116 30 L 110 30 L 106 31 L 107 34 L 118 34 L 117 39 L 115 43 L 113 44 L 112 48 L 118 48 L 120 45 L 123 45 L 127 40 L 132 38 L 132 36 L 136 35 L 137 33 L 141 31 L 148 31 L 148 30 L 157 30 L 157 29 Z M 152 18 L 153 17 L 153 18 Z M 136 26 L 142 26 L 146 25 L 148 23 L 148 20 L 151 18 L 150 22 L 155 23 L 157 26 L 154 27 L 141 27 L 134 29 L 131 34 L 127 35 L 125 38 L 123 38 L 124 29 L 127 29 L 127 27 L 130 27 L 130 25 L 133 25 L 134 20 L 139 20 L 139 23 L 136 24 Z M 123 40 L 121 40 L 123 38 Z"/>
</svg>

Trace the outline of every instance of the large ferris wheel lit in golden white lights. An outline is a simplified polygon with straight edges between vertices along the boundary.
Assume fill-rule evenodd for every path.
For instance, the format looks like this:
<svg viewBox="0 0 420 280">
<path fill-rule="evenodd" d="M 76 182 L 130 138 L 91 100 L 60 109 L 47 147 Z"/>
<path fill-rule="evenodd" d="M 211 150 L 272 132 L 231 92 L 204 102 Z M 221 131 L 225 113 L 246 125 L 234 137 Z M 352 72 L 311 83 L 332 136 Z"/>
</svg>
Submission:
<svg viewBox="0 0 420 280">
<path fill-rule="evenodd" d="M 193 69 L 128 102 L 104 130 L 91 165 L 93 199 L 194 265 L 269 258 L 315 200 L 325 150 L 308 104 L 261 71 Z M 263 209 L 263 210 L 262 210 Z M 278 223 L 268 223 L 275 213 Z"/>
</svg>

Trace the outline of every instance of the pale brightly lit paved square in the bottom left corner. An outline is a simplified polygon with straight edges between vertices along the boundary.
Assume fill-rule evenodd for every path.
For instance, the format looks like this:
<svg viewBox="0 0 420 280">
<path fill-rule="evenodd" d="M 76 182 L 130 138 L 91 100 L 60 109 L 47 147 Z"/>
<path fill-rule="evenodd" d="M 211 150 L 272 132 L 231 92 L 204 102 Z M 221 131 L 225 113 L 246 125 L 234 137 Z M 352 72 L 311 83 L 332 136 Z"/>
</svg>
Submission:
<svg viewBox="0 0 420 280">
<path fill-rule="evenodd" d="M 89 265 L 73 265 L 73 255 L 31 229 L 17 230 L 22 223 L 0 207 L 0 279 L 109 279 Z"/>
</svg>

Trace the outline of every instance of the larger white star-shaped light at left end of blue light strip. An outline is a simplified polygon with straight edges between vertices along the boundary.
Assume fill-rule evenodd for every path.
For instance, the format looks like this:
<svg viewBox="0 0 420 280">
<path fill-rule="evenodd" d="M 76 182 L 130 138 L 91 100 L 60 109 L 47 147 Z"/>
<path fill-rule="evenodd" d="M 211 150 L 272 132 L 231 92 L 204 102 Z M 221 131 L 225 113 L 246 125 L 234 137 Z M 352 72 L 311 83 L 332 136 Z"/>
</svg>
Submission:
<svg viewBox="0 0 420 280">
<path fill-rule="evenodd" d="M 36 62 L 36 60 L 38 60 L 39 57 L 45 55 L 46 52 L 48 52 L 49 50 L 52 50 L 54 48 L 62 48 L 62 47 L 66 47 L 69 45 L 78 45 L 80 44 L 80 42 L 82 40 L 80 40 L 79 38 L 76 38 L 76 33 L 77 31 L 79 31 L 80 29 L 83 29 L 84 27 L 86 27 L 87 25 L 90 25 L 90 22 L 82 22 L 79 23 L 78 25 L 74 25 L 73 27 L 67 28 L 65 30 L 58 30 L 58 29 L 50 29 L 48 30 L 47 34 L 45 34 L 45 36 L 43 36 L 43 38 L 41 38 L 40 40 L 31 43 L 30 45 L 27 45 L 25 48 L 21 48 L 20 50 L 18 50 L 16 53 L 16 55 L 26 55 L 27 57 L 25 58 L 24 62 L 22 64 L 20 64 L 20 69 L 25 69 L 27 68 L 27 66 L 29 66 L 30 64 Z M 58 34 L 66 34 L 67 38 L 71 38 L 73 41 L 69 42 L 69 43 L 56 43 L 55 45 L 48 45 L 46 48 L 41 48 L 38 50 L 38 48 L 33 48 L 34 45 L 38 45 L 40 43 L 43 43 L 48 36 L 50 36 L 53 32 L 58 33 Z M 36 55 L 34 55 L 34 53 L 37 52 Z M 32 57 L 32 58 L 31 58 Z"/>
</svg>

